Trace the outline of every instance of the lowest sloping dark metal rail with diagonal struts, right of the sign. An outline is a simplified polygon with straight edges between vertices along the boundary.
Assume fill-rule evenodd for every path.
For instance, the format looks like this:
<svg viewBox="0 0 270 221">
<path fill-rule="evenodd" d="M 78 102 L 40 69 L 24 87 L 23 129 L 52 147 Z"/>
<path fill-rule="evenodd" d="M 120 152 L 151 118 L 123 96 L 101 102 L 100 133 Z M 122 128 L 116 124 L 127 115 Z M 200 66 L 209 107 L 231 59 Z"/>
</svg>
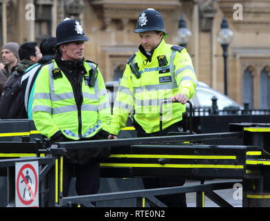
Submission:
<svg viewBox="0 0 270 221">
<path fill-rule="evenodd" d="M 62 206 L 80 205 L 93 207 L 92 202 L 123 200 L 128 198 L 136 198 L 136 207 L 145 207 L 147 202 L 152 207 L 165 207 L 161 201 L 156 199 L 156 195 L 168 195 L 175 193 L 196 193 L 196 206 L 204 207 L 204 197 L 207 196 L 218 206 L 233 207 L 231 204 L 221 198 L 215 190 L 232 189 L 235 182 L 220 182 L 213 184 L 200 184 L 197 186 L 177 186 L 161 189 L 147 189 L 137 191 L 120 191 L 117 193 L 100 193 L 94 195 L 71 196 L 60 199 Z"/>
</svg>

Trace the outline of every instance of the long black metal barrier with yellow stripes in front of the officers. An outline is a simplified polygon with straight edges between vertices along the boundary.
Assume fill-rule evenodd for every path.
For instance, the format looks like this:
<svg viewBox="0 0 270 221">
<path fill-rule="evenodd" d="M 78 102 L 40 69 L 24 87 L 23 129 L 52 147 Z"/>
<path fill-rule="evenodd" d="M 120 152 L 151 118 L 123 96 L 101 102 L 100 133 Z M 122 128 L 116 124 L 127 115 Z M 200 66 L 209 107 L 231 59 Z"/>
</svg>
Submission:
<svg viewBox="0 0 270 221">
<path fill-rule="evenodd" d="M 37 157 L 26 159 L 3 159 L 0 167 L 12 167 L 18 161 L 38 160 L 41 164 L 41 180 L 47 172 L 55 169 L 40 189 L 40 206 L 69 206 L 73 203 L 93 206 L 91 202 L 114 199 L 136 198 L 136 205 L 145 199 L 152 206 L 164 206 L 155 195 L 197 192 L 197 206 L 202 205 L 204 192 L 208 198 L 220 206 L 230 206 L 210 191 L 210 185 L 201 189 L 170 187 L 120 193 L 100 193 L 96 195 L 62 197 L 62 155 L 66 149 L 98 148 L 110 146 L 111 156 L 100 162 L 101 177 L 150 177 L 179 176 L 204 180 L 206 178 L 242 179 L 243 206 L 269 206 L 269 144 L 270 124 L 230 124 L 228 133 L 205 133 L 199 135 L 172 135 L 165 137 L 126 138 L 118 140 L 96 140 L 83 142 L 59 142 L 52 146 L 35 142 L 1 142 L 0 153 L 33 153 Z M 208 140 L 242 139 L 243 145 L 205 145 Z M 27 140 L 26 137 L 24 140 Z M 186 143 L 188 142 L 188 143 Z M 46 147 L 46 148 L 45 148 Z M 41 157 L 41 155 L 44 156 Z M 53 166 L 54 165 L 54 166 Z M 51 180 L 55 179 L 54 182 Z M 223 187 L 226 186 L 226 184 Z M 215 186 L 215 188 L 222 188 Z M 231 184 L 230 184 L 231 185 Z M 42 187 L 43 186 L 43 187 Z M 210 187 L 209 187 L 210 186 Z M 205 187 L 205 189 L 203 189 Z M 227 186 L 226 186 L 227 187 Z M 214 188 L 214 189 L 215 189 Z M 229 187 L 230 188 L 230 187 Z M 50 194 L 53 193 L 53 196 Z M 198 195 L 199 194 L 199 195 Z"/>
</svg>

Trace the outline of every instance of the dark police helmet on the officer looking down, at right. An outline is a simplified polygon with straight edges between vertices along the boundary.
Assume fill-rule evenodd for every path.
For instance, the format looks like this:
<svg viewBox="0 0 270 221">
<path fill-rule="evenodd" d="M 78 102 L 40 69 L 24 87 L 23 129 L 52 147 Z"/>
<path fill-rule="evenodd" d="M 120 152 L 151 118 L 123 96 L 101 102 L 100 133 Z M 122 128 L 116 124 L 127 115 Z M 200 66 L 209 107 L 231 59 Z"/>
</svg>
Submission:
<svg viewBox="0 0 270 221">
<path fill-rule="evenodd" d="M 148 30 L 157 30 L 168 35 L 164 29 L 164 22 L 161 13 L 153 8 L 143 10 L 138 16 L 138 22 L 134 32 L 147 32 Z"/>
</svg>

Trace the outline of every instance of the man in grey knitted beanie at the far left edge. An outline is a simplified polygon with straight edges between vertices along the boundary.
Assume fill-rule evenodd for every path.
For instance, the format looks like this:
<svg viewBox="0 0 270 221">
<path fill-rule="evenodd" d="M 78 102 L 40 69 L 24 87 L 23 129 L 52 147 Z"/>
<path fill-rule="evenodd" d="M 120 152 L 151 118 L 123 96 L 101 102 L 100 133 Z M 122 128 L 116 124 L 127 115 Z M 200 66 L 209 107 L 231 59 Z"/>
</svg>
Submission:
<svg viewBox="0 0 270 221">
<path fill-rule="evenodd" d="M 15 67 L 19 61 L 19 44 L 16 42 L 8 42 L 2 46 L 1 59 L 4 68 L 0 68 L 0 97 L 5 87 L 8 77 L 15 71 Z"/>
</svg>

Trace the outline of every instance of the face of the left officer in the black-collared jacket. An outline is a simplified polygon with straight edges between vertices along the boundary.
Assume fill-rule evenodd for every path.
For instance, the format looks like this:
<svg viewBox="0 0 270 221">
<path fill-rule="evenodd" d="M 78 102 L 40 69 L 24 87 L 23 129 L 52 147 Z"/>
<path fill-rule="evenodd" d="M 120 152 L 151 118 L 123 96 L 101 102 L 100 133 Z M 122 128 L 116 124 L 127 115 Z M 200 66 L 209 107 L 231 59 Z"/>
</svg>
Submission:
<svg viewBox="0 0 270 221">
<path fill-rule="evenodd" d="M 62 58 L 64 60 L 79 60 L 84 57 L 84 41 L 72 41 L 62 44 Z"/>
</svg>

